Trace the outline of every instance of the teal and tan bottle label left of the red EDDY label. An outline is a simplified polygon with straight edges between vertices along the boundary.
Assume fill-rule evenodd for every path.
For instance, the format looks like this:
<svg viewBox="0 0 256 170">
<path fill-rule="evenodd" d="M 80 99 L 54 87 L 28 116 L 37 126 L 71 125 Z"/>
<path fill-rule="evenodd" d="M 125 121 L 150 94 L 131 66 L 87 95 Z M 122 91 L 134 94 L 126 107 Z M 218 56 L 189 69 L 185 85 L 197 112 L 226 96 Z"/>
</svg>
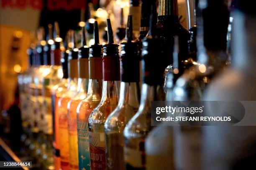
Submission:
<svg viewBox="0 0 256 170">
<path fill-rule="evenodd" d="M 78 136 L 78 159 L 79 170 L 90 169 L 90 145 L 88 123 L 85 121 L 77 122 L 77 136 Z"/>
</svg>

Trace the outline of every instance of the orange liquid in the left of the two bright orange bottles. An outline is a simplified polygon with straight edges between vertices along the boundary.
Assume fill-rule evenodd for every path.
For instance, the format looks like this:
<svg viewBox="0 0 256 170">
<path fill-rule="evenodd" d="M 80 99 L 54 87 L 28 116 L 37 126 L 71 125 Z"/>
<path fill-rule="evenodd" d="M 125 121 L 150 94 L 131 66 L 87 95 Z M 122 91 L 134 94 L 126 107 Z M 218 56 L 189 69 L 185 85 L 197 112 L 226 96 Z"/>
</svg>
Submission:
<svg viewBox="0 0 256 170">
<path fill-rule="evenodd" d="M 70 97 L 59 99 L 57 114 L 59 115 L 59 149 L 61 158 L 61 169 L 69 170 L 69 132 L 67 120 L 67 104 Z"/>
</svg>

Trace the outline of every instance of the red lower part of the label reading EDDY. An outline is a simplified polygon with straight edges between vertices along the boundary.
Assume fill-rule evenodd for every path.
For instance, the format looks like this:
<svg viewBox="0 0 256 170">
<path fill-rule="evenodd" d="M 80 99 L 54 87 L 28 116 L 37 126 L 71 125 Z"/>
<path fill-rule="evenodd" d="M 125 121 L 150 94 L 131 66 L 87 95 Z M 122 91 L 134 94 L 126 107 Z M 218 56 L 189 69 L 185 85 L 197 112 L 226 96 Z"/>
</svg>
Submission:
<svg viewBox="0 0 256 170">
<path fill-rule="evenodd" d="M 91 170 L 105 170 L 106 157 L 105 148 L 94 147 L 90 144 Z"/>
</svg>

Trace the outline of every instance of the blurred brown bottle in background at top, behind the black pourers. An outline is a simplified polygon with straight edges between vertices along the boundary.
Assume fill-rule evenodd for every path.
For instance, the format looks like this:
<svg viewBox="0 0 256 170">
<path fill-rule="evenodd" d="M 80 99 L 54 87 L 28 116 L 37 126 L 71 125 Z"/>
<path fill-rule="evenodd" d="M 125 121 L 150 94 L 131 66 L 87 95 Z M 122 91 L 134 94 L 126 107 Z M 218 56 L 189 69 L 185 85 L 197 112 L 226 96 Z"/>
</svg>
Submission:
<svg viewBox="0 0 256 170">
<path fill-rule="evenodd" d="M 133 36 L 138 38 L 141 26 L 141 3 L 139 0 L 130 0 L 129 15 L 133 17 Z"/>
</svg>

